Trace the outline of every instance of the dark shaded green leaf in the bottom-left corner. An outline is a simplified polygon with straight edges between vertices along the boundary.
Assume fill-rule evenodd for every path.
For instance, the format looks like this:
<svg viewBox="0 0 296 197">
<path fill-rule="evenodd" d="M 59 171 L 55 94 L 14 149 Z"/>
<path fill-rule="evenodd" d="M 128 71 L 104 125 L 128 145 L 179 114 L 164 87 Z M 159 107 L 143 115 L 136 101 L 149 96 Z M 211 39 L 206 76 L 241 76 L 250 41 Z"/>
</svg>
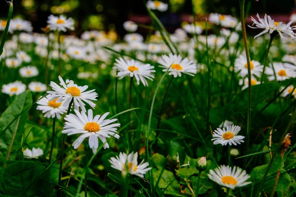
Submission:
<svg viewBox="0 0 296 197">
<path fill-rule="evenodd" d="M 29 180 L 40 176 L 45 167 L 38 162 L 16 162 L 1 169 L 0 190 L 5 191 L 7 196 L 18 196 L 30 185 Z M 50 197 L 51 186 L 49 181 L 49 171 L 30 187 L 21 197 Z"/>
</svg>

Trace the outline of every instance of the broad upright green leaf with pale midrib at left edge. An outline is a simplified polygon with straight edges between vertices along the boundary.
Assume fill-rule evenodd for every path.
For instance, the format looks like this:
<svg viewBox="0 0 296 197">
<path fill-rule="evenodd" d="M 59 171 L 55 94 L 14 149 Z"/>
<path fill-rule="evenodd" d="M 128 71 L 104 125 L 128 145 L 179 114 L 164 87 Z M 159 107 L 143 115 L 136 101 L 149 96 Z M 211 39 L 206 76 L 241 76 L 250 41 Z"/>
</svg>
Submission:
<svg viewBox="0 0 296 197">
<path fill-rule="evenodd" d="M 0 118 L 0 127 L 6 128 L 24 109 L 32 104 L 30 91 L 18 95 L 7 107 Z M 0 138 L 0 158 L 15 160 L 17 151 L 21 147 L 22 135 L 27 120 L 28 111 L 20 115 Z"/>
</svg>

